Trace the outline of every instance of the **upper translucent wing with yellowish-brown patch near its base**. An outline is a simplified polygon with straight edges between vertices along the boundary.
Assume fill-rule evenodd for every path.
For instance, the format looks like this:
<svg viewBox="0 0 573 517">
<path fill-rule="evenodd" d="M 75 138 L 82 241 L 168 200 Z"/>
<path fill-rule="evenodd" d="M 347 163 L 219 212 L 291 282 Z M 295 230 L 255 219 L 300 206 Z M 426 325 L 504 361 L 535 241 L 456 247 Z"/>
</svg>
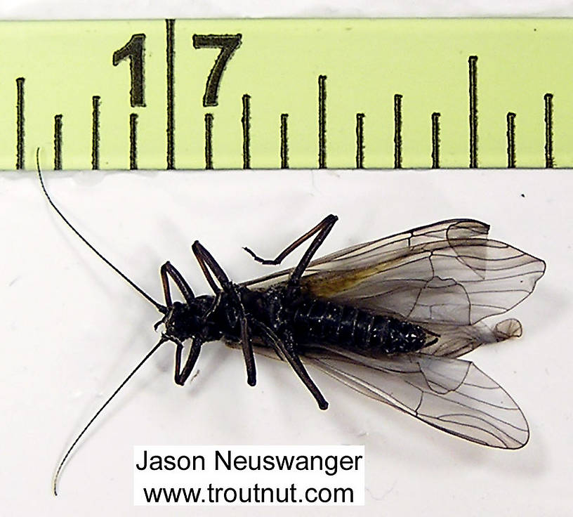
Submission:
<svg viewBox="0 0 573 517">
<path fill-rule="evenodd" d="M 421 325 L 474 325 L 525 299 L 545 263 L 487 238 L 489 226 L 441 221 L 357 244 L 312 261 L 302 284 L 312 296 Z M 285 282 L 291 270 L 246 282 L 251 289 Z"/>
</svg>

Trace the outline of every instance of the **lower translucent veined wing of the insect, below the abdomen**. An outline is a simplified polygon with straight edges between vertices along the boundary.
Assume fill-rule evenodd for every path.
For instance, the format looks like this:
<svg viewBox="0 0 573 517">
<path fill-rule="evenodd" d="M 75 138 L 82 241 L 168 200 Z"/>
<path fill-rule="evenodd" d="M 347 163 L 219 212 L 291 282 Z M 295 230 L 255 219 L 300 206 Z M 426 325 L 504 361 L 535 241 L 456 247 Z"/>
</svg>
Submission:
<svg viewBox="0 0 573 517">
<path fill-rule="evenodd" d="M 473 362 L 424 354 L 378 360 L 347 351 L 313 353 L 305 362 L 460 438 L 503 449 L 518 449 L 529 440 L 518 405 Z"/>
</svg>

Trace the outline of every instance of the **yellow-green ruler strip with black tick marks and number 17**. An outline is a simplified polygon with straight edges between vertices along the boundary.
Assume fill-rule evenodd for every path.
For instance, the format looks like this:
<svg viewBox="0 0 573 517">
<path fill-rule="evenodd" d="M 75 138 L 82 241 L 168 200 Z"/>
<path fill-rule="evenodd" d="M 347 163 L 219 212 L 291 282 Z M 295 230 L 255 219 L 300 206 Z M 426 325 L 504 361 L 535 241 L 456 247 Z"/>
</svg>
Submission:
<svg viewBox="0 0 573 517">
<path fill-rule="evenodd" d="M 568 19 L 0 23 L 0 169 L 573 166 Z"/>
</svg>

